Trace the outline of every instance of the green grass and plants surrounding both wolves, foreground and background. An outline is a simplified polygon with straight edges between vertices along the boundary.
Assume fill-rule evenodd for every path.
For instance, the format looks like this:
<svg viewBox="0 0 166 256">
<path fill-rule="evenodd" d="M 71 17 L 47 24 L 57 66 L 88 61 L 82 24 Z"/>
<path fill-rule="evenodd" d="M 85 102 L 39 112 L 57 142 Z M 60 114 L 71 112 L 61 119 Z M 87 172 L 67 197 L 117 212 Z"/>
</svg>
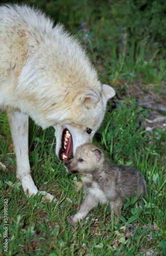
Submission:
<svg viewBox="0 0 166 256">
<path fill-rule="evenodd" d="M 162 29 L 162 3 L 144 1 L 144 9 L 149 8 L 146 13 L 142 11 L 142 2 L 133 1 L 120 1 L 120 4 L 86 0 L 30 1 L 33 3 L 77 34 L 99 70 L 101 81 L 112 84 L 117 98 L 123 99 L 116 108 L 113 102 L 108 104 L 94 142 L 105 151 L 110 162 L 140 169 L 147 181 L 147 198 L 142 208 L 137 207 L 134 198 L 128 200 L 117 225 L 110 222 L 108 205 L 99 205 L 85 220 L 71 226 L 68 219 L 78 210 L 85 195 L 82 190 L 76 191 L 79 176 L 69 175 L 56 157 L 53 129 L 42 131 L 30 120 L 30 163 L 38 188 L 56 195 L 58 203 L 44 202 L 40 195 L 25 197 L 16 180 L 16 159 L 7 116 L 3 113 L 0 115 L 0 161 L 7 169 L 0 167 L 0 254 L 164 255 L 166 133 L 161 129 L 145 132 L 141 123 L 148 117 L 148 111 L 138 108 L 136 100 L 128 94 L 137 80 L 142 81 L 147 91 L 163 94 L 161 82 L 166 80 L 166 61 L 165 48 L 161 46 L 166 41 L 166 33 Z M 80 32 L 81 22 L 85 25 Z M 153 24 L 160 31 L 154 30 Z M 127 36 L 122 38 L 124 34 Z M 8 199 L 8 253 L 4 252 L 3 244 L 5 199 Z M 128 224 L 134 228 L 131 238 L 122 230 Z"/>
</svg>

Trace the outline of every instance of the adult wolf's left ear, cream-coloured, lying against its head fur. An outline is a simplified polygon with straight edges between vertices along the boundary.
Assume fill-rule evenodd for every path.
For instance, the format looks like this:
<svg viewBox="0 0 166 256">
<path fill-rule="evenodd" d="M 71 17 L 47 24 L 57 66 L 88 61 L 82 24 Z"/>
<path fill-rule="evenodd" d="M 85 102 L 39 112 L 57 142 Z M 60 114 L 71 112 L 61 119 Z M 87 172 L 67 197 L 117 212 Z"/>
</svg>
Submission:
<svg viewBox="0 0 166 256">
<path fill-rule="evenodd" d="M 76 105 L 85 104 L 89 106 L 96 104 L 99 101 L 99 96 L 93 90 L 84 89 L 80 91 L 74 99 Z"/>
</svg>

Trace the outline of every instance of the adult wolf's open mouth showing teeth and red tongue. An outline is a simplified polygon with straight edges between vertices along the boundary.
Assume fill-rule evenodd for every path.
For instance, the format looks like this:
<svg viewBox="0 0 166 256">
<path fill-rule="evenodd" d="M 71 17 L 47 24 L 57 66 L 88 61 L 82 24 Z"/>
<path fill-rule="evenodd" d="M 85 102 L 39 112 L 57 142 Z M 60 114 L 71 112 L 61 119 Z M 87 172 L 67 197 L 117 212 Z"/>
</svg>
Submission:
<svg viewBox="0 0 166 256">
<path fill-rule="evenodd" d="M 73 152 L 73 141 L 70 132 L 65 129 L 62 133 L 62 147 L 60 150 L 60 159 L 65 162 Z"/>
</svg>

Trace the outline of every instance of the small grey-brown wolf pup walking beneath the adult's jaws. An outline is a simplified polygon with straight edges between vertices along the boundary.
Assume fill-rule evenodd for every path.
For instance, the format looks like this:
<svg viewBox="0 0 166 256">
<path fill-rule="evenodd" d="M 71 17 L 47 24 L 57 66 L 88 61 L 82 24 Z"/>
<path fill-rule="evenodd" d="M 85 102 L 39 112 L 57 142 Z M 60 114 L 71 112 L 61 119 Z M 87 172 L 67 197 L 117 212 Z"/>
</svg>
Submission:
<svg viewBox="0 0 166 256">
<path fill-rule="evenodd" d="M 134 167 L 110 165 L 102 151 L 93 144 L 77 148 L 73 159 L 65 163 L 70 174 L 82 174 L 86 198 L 79 211 L 71 218 L 74 224 L 82 220 L 98 203 L 109 200 L 111 218 L 121 215 L 124 197 L 146 196 L 146 182 Z"/>
</svg>

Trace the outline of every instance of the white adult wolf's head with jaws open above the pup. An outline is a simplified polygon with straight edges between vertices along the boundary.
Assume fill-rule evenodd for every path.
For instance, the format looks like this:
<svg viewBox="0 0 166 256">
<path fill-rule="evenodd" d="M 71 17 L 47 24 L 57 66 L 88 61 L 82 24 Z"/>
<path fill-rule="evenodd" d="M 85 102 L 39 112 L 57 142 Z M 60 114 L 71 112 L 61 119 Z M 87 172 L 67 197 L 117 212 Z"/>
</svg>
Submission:
<svg viewBox="0 0 166 256">
<path fill-rule="evenodd" d="M 84 143 L 92 142 L 93 136 L 99 128 L 106 109 L 106 102 L 114 97 L 115 91 L 106 84 L 95 92 L 81 89 L 72 92 L 72 108 L 64 122 L 57 124 L 56 154 L 61 160 L 66 160 L 75 154 L 76 148 Z M 66 110 L 68 113 L 68 110 Z"/>
</svg>

